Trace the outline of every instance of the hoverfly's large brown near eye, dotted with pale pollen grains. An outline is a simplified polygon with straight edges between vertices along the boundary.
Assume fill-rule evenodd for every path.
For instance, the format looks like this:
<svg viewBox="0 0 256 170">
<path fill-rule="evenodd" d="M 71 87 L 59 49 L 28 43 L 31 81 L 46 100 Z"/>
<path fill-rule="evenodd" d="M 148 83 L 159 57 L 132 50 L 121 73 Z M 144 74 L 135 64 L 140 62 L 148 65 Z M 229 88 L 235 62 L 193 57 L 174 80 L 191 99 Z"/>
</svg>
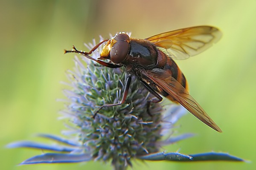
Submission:
<svg viewBox="0 0 256 170">
<path fill-rule="evenodd" d="M 122 34 L 119 34 L 122 35 Z M 127 35 L 127 34 L 125 34 Z M 127 35 L 128 36 L 128 35 Z M 118 36 L 119 37 L 119 36 Z M 128 36 L 129 38 L 129 36 Z M 122 40 L 118 40 L 111 48 L 110 51 L 110 59 L 113 63 L 119 64 L 121 63 L 129 50 L 129 42 Z"/>
</svg>

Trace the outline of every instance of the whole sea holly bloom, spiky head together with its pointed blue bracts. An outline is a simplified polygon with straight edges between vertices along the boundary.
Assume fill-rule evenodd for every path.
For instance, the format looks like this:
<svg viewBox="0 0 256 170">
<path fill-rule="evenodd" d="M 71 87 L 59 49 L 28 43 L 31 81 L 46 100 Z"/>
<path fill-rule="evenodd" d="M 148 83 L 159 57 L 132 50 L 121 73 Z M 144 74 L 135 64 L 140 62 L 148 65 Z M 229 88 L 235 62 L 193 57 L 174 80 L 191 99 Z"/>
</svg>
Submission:
<svg viewBox="0 0 256 170">
<path fill-rule="evenodd" d="M 100 41 L 102 40 L 103 38 L 100 37 Z M 89 50 L 95 45 L 95 40 L 92 44 L 85 44 Z M 99 46 L 91 57 L 98 58 L 101 51 L 102 46 Z M 125 68 L 107 68 L 83 56 L 81 59 L 75 57 L 74 61 L 75 68 L 67 74 L 70 82 L 66 83 L 71 86 L 71 90 L 64 90 L 68 99 L 67 109 L 62 111 L 63 116 L 72 122 L 68 135 L 70 139 L 40 134 L 39 136 L 61 142 L 62 145 L 53 146 L 34 142 L 9 144 L 9 147 L 32 147 L 55 151 L 55 153 L 34 156 L 21 164 L 95 160 L 111 161 L 114 169 L 119 170 L 132 166 L 133 159 L 242 161 L 225 153 L 185 155 L 163 152 L 160 149 L 164 145 L 193 136 L 191 133 L 173 135 L 175 122 L 186 113 L 186 109 L 175 104 L 163 107 L 162 103 L 158 102 L 150 104 L 149 114 L 148 100 L 154 96 L 136 77 L 132 77 L 125 103 L 99 110 L 102 105 L 118 103 L 122 99 L 128 77 Z M 97 111 L 99 112 L 96 116 L 93 116 Z"/>
</svg>

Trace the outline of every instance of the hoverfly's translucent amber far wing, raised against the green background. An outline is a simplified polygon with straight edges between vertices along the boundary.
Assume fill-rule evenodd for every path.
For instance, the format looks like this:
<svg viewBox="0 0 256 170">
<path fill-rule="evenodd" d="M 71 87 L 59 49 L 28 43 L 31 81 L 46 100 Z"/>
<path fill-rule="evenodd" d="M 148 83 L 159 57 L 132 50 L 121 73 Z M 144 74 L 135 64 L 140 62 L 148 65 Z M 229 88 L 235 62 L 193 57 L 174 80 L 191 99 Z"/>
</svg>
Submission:
<svg viewBox="0 0 256 170">
<path fill-rule="evenodd" d="M 211 26 L 196 26 L 158 34 L 146 40 L 174 59 L 187 59 L 209 48 L 221 38 L 221 31 Z"/>
</svg>

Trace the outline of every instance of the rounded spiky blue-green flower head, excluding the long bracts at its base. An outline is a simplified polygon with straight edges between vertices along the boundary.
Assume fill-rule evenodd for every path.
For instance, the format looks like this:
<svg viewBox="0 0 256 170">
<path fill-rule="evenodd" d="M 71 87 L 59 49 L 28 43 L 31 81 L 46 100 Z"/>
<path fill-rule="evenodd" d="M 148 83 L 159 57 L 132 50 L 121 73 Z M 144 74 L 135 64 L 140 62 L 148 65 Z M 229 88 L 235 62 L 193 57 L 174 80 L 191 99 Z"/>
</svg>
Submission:
<svg viewBox="0 0 256 170">
<path fill-rule="evenodd" d="M 99 57 L 101 51 L 99 47 L 93 57 Z M 128 75 L 124 67 L 111 69 L 82 59 L 87 67 L 75 59 L 75 72 L 69 74 L 73 91 L 66 94 L 72 101 L 68 111 L 79 128 L 80 141 L 90 148 L 93 159 L 111 160 L 114 166 L 126 167 L 134 157 L 157 152 L 163 130 L 161 104 L 151 103 L 149 115 L 147 102 L 153 96 L 133 77 L 125 104 L 102 108 L 93 118 L 100 106 L 122 99 Z"/>
</svg>

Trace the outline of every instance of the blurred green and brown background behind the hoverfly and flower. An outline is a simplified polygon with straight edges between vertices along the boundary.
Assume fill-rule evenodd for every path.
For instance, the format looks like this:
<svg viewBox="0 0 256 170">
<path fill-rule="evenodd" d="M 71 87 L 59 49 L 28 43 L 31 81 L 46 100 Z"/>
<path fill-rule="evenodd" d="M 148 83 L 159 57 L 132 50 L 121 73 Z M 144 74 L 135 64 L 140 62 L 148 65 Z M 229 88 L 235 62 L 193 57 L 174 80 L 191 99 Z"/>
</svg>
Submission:
<svg viewBox="0 0 256 170">
<path fill-rule="evenodd" d="M 190 93 L 223 130 L 217 133 L 191 114 L 180 132 L 197 135 L 163 148 L 181 153 L 222 151 L 250 160 L 237 162 L 140 162 L 134 170 L 256 169 L 256 1 L 255 0 L 9 0 L 0 2 L 0 160 L 2 170 L 108 169 L 98 162 L 17 166 L 41 150 L 6 149 L 17 140 L 40 139 L 36 133 L 60 135 L 64 109 L 61 84 L 72 69 L 73 54 L 64 49 L 109 33 L 131 31 L 133 37 L 198 25 L 216 26 L 222 39 L 197 57 L 177 61 Z"/>
</svg>

